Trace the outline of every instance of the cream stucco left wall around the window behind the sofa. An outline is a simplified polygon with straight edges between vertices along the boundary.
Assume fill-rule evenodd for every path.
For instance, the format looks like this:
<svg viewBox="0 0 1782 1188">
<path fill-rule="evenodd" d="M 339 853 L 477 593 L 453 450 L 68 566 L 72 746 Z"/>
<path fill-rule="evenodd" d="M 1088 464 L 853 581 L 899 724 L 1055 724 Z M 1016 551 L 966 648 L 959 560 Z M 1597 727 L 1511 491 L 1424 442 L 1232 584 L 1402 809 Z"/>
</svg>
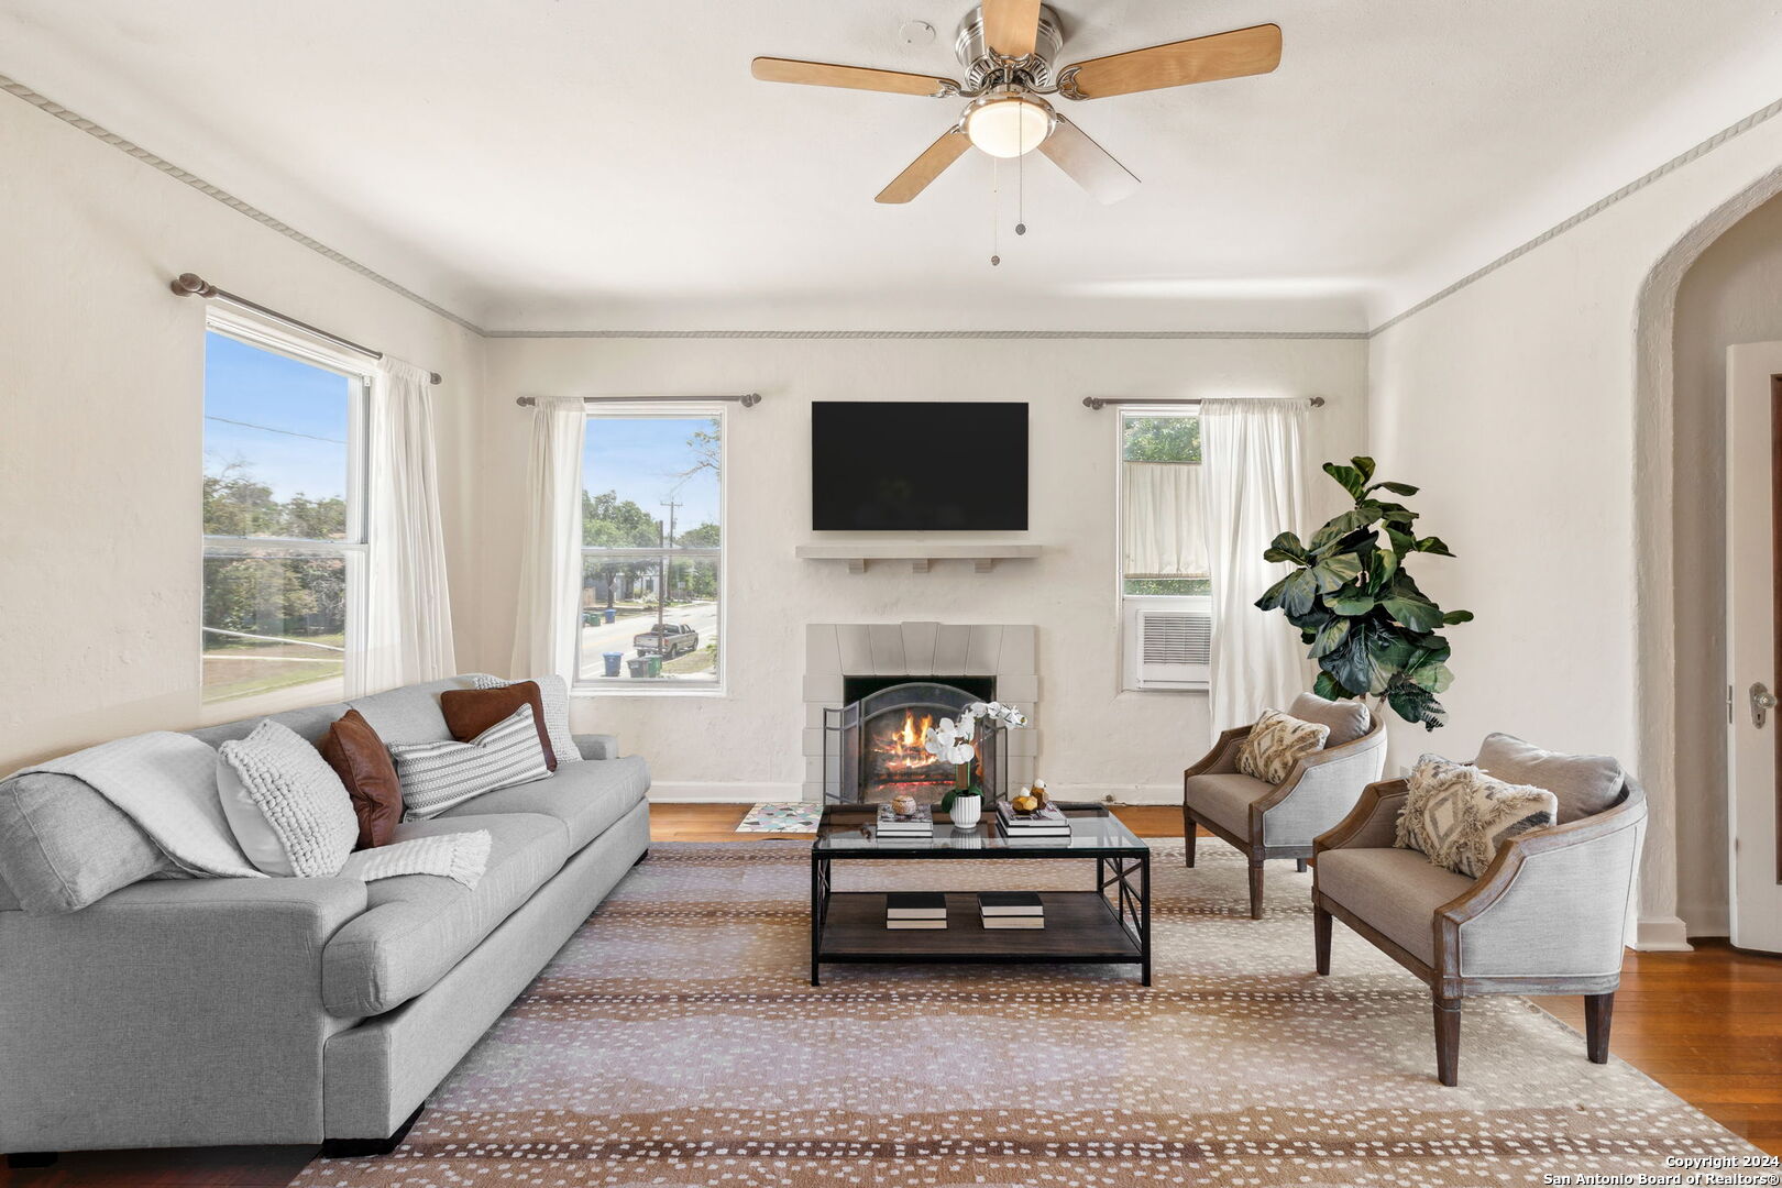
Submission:
<svg viewBox="0 0 1782 1188">
<path fill-rule="evenodd" d="M 444 374 L 469 636 L 481 340 L 9 96 L 0 162 L 0 771 L 200 720 L 205 308 L 178 273 Z"/>
</svg>

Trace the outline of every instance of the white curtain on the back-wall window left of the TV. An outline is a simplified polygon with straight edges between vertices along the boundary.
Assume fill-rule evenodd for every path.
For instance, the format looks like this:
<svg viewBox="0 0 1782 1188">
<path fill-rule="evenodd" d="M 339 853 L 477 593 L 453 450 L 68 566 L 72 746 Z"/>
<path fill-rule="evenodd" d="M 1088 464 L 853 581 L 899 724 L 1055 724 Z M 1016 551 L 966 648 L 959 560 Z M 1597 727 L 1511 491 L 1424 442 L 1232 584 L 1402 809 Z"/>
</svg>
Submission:
<svg viewBox="0 0 1782 1188">
<path fill-rule="evenodd" d="M 588 415 L 576 397 L 538 397 L 526 483 L 526 549 L 510 675 L 576 679 L 581 593 L 581 445 Z"/>
</svg>

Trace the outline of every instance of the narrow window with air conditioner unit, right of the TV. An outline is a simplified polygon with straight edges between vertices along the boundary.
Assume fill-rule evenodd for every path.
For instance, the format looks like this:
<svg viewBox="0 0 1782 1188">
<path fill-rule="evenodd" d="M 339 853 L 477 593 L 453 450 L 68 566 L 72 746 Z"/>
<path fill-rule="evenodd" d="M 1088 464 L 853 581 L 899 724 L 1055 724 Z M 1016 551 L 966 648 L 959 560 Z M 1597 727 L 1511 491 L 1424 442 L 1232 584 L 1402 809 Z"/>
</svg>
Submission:
<svg viewBox="0 0 1782 1188">
<path fill-rule="evenodd" d="M 1119 451 L 1124 688 L 1205 689 L 1212 570 L 1199 417 L 1123 410 Z"/>
</svg>

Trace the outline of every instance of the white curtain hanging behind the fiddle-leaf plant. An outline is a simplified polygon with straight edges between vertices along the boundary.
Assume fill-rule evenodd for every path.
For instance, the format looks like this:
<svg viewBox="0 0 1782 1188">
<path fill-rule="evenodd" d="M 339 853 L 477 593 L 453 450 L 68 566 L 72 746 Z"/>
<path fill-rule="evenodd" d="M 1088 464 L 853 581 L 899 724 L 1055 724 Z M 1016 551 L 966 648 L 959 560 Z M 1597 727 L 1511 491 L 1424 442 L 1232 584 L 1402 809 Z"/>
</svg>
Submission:
<svg viewBox="0 0 1782 1188">
<path fill-rule="evenodd" d="M 1310 675 L 1299 632 L 1255 602 L 1292 572 L 1262 559 L 1279 533 L 1304 529 L 1308 401 L 1203 401 L 1201 468 L 1214 581 L 1214 730 L 1285 709 Z"/>
</svg>

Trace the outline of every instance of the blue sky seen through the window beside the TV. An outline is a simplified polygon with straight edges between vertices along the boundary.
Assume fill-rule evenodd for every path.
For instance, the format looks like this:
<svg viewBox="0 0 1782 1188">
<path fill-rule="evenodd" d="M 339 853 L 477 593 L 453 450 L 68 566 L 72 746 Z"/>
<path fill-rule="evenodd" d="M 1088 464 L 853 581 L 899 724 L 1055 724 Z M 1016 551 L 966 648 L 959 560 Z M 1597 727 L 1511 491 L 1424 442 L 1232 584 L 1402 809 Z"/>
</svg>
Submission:
<svg viewBox="0 0 1782 1188">
<path fill-rule="evenodd" d="M 718 476 L 700 470 L 681 481 L 695 454 L 686 440 L 706 427 L 706 417 L 595 417 L 581 456 L 581 484 L 592 493 L 618 492 L 659 520 L 675 483 L 675 531 L 718 522 Z"/>
</svg>

